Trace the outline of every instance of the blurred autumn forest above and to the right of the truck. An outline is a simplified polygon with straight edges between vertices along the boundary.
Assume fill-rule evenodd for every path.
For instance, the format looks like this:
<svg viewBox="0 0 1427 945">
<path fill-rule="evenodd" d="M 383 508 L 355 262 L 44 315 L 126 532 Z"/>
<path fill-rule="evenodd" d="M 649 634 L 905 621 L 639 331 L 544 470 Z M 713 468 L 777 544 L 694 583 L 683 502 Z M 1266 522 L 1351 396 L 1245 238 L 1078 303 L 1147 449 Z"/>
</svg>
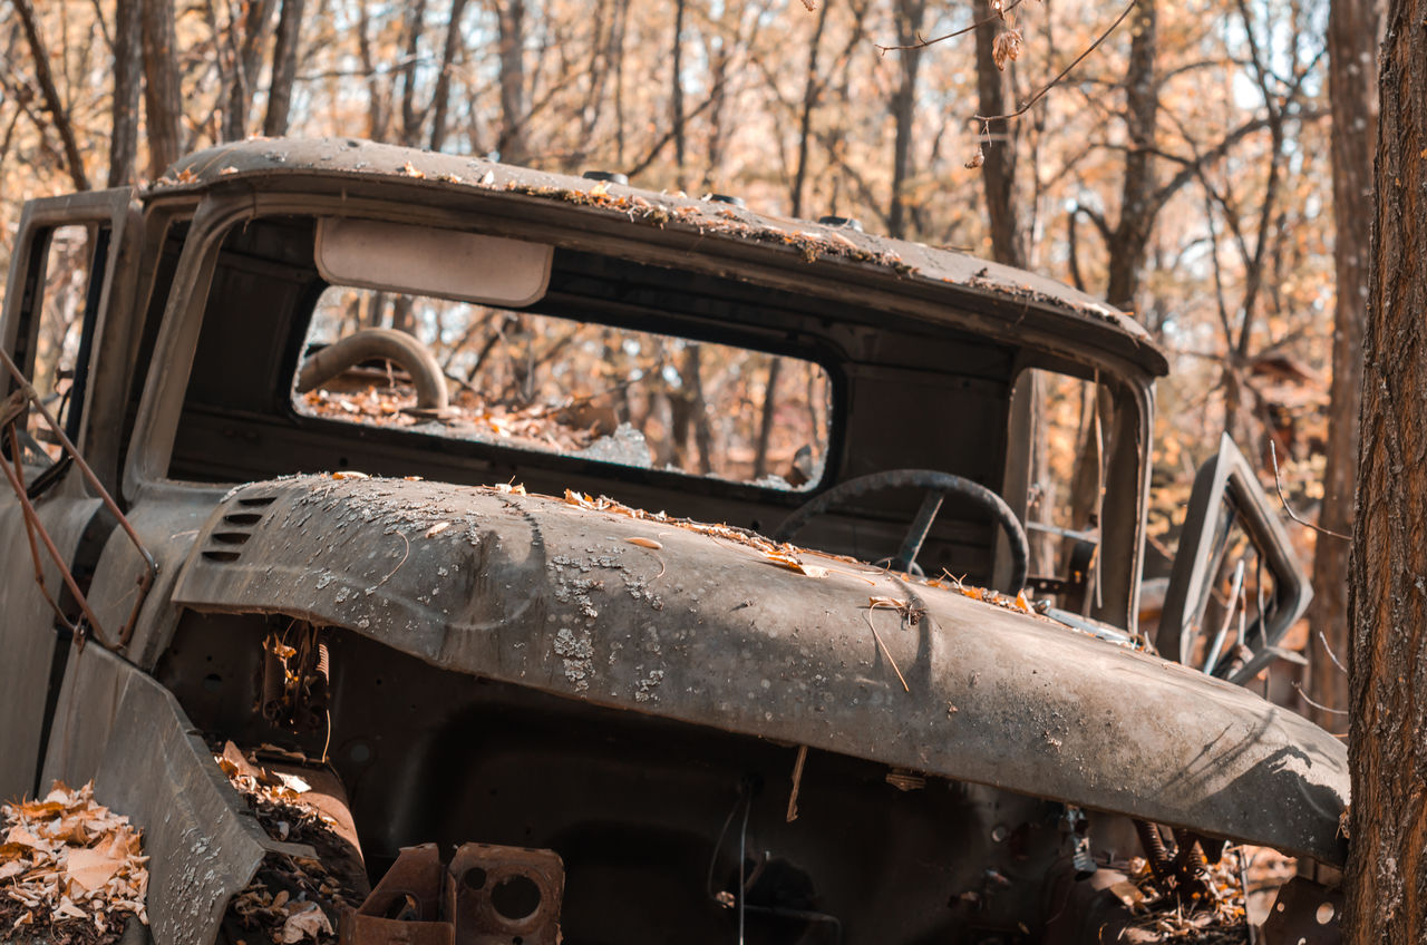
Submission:
<svg viewBox="0 0 1427 945">
<path fill-rule="evenodd" d="M 856 217 L 1139 318 L 1173 364 L 1154 431 L 1167 554 L 1222 433 L 1270 488 L 1277 458 L 1300 515 L 1346 532 L 1378 14 L 1333 7 L 0 0 L 0 263 L 23 200 L 144 186 L 183 153 L 254 134 L 614 170 Z M 1347 542 L 1293 528 L 1319 600 L 1290 641 L 1309 668 L 1274 672 L 1333 709 Z"/>
</svg>

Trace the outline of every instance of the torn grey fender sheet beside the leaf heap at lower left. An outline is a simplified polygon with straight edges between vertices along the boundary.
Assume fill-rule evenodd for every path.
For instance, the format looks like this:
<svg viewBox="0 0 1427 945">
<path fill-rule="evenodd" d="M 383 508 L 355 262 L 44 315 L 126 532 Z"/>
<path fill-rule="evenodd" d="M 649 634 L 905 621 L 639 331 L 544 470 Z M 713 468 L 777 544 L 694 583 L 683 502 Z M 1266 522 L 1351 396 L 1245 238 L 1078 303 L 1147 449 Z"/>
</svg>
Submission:
<svg viewBox="0 0 1427 945">
<path fill-rule="evenodd" d="M 311 852 L 268 839 L 173 695 L 118 657 L 77 654 L 60 715 L 46 774 L 93 777 L 96 797 L 143 828 L 158 945 L 213 942 L 228 899 L 268 851 Z"/>
</svg>

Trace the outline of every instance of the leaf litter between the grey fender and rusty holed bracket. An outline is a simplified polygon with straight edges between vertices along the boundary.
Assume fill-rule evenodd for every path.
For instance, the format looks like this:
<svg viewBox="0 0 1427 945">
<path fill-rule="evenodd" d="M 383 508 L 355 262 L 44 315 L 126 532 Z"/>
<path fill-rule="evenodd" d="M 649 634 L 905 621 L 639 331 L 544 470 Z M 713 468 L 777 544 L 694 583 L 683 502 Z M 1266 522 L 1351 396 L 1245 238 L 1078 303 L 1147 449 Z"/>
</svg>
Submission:
<svg viewBox="0 0 1427 945">
<path fill-rule="evenodd" d="M 340 837 L 332 817 L 307 801 L 311 788 L 301 775 L 248 759 L 231 742 L 214 755 L 228 782 L 248 802 L 268 837 L 310 845 L 317 856 L 270 854 L 257 875 L 228 904 L 224 925 L 234 941 L 337 941 L 342 909 L 367 896 L 360 856 Z M 345 868 L 344 868 L 345 866 Z"/>
</svg>

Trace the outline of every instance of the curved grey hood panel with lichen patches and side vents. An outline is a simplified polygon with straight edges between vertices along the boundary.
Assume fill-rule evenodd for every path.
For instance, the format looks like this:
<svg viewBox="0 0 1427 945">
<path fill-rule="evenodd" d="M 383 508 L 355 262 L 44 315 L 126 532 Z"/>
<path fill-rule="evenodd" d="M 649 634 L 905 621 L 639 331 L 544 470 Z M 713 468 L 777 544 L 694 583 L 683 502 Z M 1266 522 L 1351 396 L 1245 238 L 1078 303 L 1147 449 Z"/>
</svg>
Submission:
<svg viewBox="0 0 1427 945">
<path fill-rule="evenodd" d="M 173 600 L 1341 862 L 1347 755 L 1307 719 L 1042 618 L 813 561 L 826 577 L 561 500 L 318 475 L 230 494 Z M 912 625 L 869 597 L 925 617 Z"/>
</svg>

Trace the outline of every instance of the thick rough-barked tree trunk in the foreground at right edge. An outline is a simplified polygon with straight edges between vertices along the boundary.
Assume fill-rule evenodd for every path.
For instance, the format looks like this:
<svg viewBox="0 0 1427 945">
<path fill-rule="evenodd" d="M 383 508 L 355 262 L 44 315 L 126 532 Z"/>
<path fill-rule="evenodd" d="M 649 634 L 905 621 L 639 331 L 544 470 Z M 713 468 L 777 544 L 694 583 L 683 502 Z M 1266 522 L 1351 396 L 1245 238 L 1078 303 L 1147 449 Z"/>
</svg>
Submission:
<svg viewBox="0 0 1427 945">
<path fill-rule="evenodd" d="M 1427 941 L 1427 0 L 1391 0 L 1349 612 L 1353 945 Z"/>
</svg>

